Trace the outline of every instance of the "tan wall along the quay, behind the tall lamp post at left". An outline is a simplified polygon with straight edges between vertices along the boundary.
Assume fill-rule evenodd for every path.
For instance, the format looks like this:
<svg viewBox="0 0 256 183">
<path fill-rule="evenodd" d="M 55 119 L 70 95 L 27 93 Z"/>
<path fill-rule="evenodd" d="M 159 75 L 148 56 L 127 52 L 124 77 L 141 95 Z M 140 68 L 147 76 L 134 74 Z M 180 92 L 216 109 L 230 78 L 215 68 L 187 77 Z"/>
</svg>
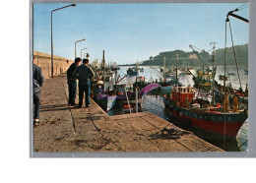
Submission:
<svg viewBox="0 0 256 183">
<path fill-rule="evenodd" d="M 51 55 L 45 54 L 37 51 L 33 51 L 34 64 L 41 68 L 44 78 L 51 77 Z M 66 73 L 69 66 L 74 62 L 74 60 L 63 58 L 59 56 L 53 56 L 53 74 L 54 76 Z"/>
</svg>

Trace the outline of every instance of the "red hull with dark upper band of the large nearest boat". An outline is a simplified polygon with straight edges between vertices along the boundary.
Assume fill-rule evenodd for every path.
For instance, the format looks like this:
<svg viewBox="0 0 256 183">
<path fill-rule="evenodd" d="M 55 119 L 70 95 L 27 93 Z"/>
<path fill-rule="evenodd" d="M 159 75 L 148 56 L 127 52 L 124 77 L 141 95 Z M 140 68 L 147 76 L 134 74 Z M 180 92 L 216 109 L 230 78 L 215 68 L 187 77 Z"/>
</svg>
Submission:
<svg viewBox="0 0 256 183">
<path fill-rule="evenodd" d="M 192 125 L 215 134 L 225 134 L 232 138 L 236 137 L 240 127 L 248 117 L 248 115 L 244 113 L 224 114 L 218 111 L 200 112 L 189 110 L 178 105 L 173 105 L 165 97 L 163 97 L 163 102 L 175 117 L 187 125 Z"/>
</svg>

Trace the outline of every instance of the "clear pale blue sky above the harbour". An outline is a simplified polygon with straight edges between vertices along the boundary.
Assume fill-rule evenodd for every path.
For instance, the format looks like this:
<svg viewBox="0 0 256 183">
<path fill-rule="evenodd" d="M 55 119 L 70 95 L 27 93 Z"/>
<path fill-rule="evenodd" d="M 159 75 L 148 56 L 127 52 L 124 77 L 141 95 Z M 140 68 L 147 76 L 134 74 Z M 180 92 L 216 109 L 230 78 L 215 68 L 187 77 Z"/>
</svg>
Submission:
<svg viewBox="0 0 256 183">
<path fill-rule="evenodd" d="M 33 5 L 33 50 L 51 54 L 51 11 L 69 4 Z M 54 55 L 74 59 L 89 52 L 90 60 L 132 64 L 160 52 L 224 48 L 226 14 L 244 3 L 78 3 L 53 13 Z M 248 19 L 249 8 L 235 13 Z M 248 43 L 249 25 L 229 17 L 235 45 Z M 231 46 L 227 29 L 227 46 Z M 84 56 L 84 54 L 83 54 Z"/>
</svg>

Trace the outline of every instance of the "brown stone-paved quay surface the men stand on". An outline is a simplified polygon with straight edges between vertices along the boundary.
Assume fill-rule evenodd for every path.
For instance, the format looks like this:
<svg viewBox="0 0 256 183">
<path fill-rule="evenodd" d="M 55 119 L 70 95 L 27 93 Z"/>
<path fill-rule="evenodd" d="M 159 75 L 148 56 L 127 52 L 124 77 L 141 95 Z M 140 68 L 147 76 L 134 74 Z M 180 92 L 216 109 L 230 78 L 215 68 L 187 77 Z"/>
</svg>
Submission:
<svg viewBox="0 0 256 183">
<path fill-rule="evenodd" d="M 67 94 L 65 75 L 45 80 L 33 152 L 223 152 L 191 133 L 160 135 L 182 129 L 150 112 L 108 116 L 93 99 L 90 108 L 68 106 Z"/>
</svg>

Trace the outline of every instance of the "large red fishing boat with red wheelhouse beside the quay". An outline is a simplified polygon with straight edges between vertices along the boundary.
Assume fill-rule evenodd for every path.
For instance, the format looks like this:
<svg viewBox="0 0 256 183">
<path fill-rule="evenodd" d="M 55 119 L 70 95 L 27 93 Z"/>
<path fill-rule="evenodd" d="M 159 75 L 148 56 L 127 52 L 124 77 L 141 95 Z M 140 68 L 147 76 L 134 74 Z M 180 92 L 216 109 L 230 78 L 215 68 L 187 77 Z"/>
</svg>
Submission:
<svg viewBox="0 0 256 183">
<path fill-rule="evenodd" d="M 220 103 L 211 105 L 195 98 L 192 87 L 173 87 L 171 94 L 163 96 L 163 103 L 182 123 L 229 137 L 236 137 L 248 117 L 246 110 L 224 111 Z"/>
</svg>

